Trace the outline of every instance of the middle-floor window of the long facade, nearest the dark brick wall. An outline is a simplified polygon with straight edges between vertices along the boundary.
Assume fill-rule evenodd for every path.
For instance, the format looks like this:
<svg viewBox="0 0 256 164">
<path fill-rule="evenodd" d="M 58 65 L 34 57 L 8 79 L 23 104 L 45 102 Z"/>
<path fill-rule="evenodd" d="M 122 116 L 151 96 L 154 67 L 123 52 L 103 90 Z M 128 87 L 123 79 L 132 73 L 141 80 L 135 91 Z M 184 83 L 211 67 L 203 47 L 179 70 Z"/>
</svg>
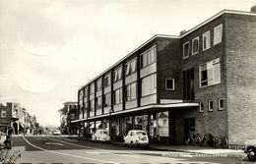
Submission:
<svg viewBox="0 0 256 164">
<path fill-rule="evenodd" d="M 151 95 L 157 92 L 157 75 L 153 74 L 142 79 L 142 96 Z"/>
</svg>

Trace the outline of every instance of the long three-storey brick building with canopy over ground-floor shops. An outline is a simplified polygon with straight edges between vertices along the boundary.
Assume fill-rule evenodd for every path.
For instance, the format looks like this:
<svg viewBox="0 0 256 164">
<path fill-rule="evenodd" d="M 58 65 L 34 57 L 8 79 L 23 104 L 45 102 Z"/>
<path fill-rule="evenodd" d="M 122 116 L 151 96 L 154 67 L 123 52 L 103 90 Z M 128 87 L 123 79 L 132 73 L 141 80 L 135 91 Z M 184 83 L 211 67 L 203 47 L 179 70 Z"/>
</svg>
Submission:
<svg viewBox="0 0 256 164">
<path fill-rule="evenodd" d="M 115 139 L 131 129 L 183 144 L 190 131 L 256 138 L 256 14 L 224 10 L 155 35 L 78 90 L 78 118 Z"/>
</svg>

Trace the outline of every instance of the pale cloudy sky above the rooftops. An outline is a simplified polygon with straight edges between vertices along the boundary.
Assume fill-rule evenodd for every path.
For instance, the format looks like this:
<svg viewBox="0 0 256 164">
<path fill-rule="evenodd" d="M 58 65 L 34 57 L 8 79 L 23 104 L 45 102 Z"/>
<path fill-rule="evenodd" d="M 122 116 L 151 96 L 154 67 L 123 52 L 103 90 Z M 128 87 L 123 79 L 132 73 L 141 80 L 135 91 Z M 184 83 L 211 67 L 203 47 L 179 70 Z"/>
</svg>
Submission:
<svg viewBox="0 0 256 164">
<path fill-rule="evenodd" d="M 0 102 L 42 126 L 78 89 L 155 34 L 179 35 L 256 0 L 0 0 Z"/>
</svg>

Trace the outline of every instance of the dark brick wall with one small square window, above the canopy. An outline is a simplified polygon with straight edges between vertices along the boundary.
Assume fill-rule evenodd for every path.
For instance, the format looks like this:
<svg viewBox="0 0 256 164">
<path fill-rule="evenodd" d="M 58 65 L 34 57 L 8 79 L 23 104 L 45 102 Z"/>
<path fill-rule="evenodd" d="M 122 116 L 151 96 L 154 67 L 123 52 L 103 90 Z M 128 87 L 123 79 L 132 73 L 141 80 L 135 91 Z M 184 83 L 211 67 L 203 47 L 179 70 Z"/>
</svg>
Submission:
<svg viewBox="0 0 256 164">
<path fill-rule="evenodd" d="M 182 99 L 180 43 L 177 38 L 158 38 L 158 99 Z M 174 79 L 174 90 L 165 89 L 165 79 Z"/>
</svg>

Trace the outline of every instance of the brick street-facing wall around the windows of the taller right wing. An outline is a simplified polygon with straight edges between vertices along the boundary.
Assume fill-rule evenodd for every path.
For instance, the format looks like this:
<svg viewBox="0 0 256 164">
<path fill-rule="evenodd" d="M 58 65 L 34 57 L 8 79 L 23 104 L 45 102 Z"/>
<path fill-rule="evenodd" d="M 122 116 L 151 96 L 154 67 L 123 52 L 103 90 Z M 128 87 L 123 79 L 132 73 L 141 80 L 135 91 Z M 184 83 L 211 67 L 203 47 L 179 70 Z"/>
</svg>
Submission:
<svg viewBox="0 0 256 164">
<path fill-rule="evenodd" d="M 226 81 L 225 81 L 225 59 L 224 59 L 224 40 L 225 34 L 223 32 L 223 41 L 221 44 L 213 45 L 214 27 L 224 25 L 224 17 L 214 20 L 213 22 L 200 27 L 199 29 L 189 33 L 181 38 L 180 49 L 183 49 L 183 43 L 190 41 L 190 52 L 192 52 L 192 39 L 199 36 L 199 53 L 191 55 L 187 59 L 181 61 L 181 71 L 194 68 L 194 87 L 195 87 L 195 100 L 192 102 L 203 102 L 204 112 L 200 113 L 199 109 L 182 109 L 176 110 L 176 139 L 181 143 L 183 139 L 183 119 L 195 118 L 196 133 L 202 136 L 205 133 L 211 133 L 214 136 L 227 137 L 227 107 L 226 107 Z M 203 51 L 202 49 L 202 34 L 211 30 L 211 48 Z M 182 51 L 180 52 L 182 56 Z M 214 59 L 221 59 L 221 83 L 199 87 L 199 65 Z M 219 98 L 224 98 L 224 110 L 218 109 Z M 214 101 L 214 111 L 208 111 L 208 100 Z M 181 137 L 181 138 L 178 138 Z"/>
</svg>

